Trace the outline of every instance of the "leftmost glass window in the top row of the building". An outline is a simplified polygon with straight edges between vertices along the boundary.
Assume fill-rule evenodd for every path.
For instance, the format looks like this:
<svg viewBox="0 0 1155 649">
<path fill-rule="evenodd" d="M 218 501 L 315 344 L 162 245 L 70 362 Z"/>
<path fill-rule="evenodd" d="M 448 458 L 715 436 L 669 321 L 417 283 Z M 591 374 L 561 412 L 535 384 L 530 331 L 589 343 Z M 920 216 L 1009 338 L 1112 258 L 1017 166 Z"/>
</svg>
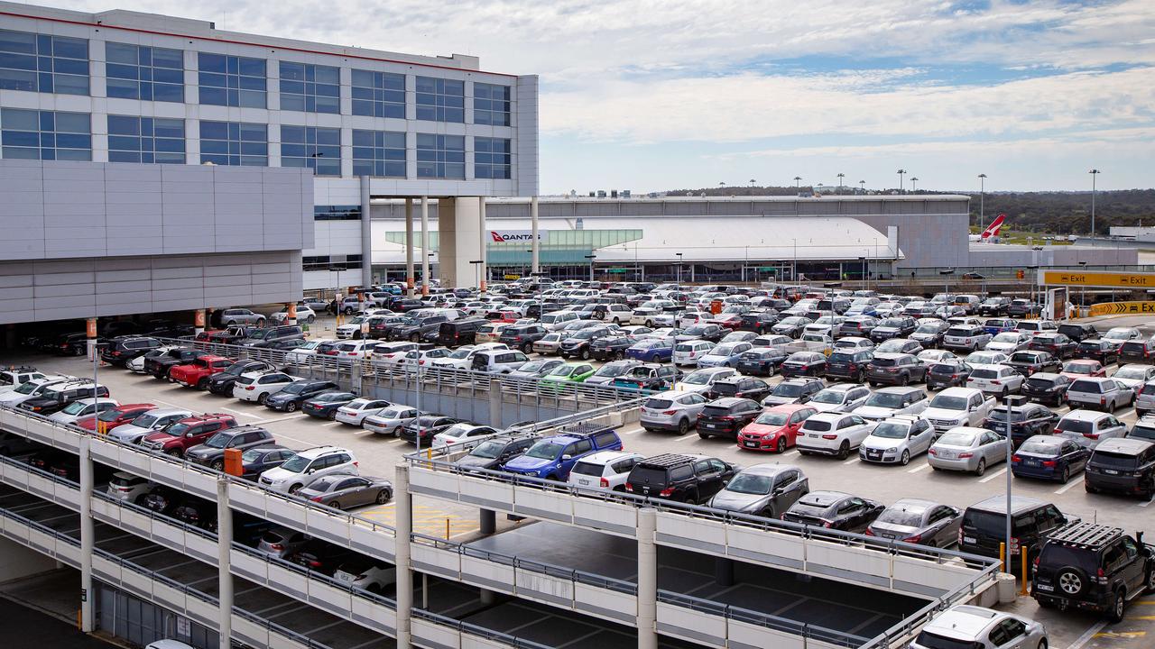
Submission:
<svg viewBox="0 0 1155 649">
<path fill-rule="evenodd" d="M 0 90 L 88 95 L 88 40 L 0 29 Z"/>
</svg>

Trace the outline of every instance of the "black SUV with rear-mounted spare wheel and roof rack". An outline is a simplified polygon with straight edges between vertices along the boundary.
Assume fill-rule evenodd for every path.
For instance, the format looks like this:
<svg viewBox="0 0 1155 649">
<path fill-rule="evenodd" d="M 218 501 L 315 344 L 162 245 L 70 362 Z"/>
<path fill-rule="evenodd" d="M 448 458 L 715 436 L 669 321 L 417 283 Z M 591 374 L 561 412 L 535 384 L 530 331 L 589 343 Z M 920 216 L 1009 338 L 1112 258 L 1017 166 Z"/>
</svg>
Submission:
<svg viewBox="0 0 1155 649">
<path fill-rule="evenodd" d="M 1123 621 L 1127 602 L 1155 594 L 1155 547 L 1119 528 L 1072 523 L 1051 534 L 1035 565 L 1030 596 L 1040 606 L 1101 611 Z"/>
</svg>

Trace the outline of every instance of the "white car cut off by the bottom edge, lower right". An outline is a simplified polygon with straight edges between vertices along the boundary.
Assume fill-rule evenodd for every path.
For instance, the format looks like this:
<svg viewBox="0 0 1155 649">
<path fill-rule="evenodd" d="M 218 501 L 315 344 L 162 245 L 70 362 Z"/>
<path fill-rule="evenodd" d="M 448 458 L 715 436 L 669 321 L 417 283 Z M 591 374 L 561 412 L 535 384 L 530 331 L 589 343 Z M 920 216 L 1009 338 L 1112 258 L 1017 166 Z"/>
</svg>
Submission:
<svg viewBox="0 0 1155 649">
<path fill-rule="evenodd" d="M 931 620 L 909 649 L 1046 649 L 1043 625 L 1013 613 L 963 604 Z"/>
</svg>

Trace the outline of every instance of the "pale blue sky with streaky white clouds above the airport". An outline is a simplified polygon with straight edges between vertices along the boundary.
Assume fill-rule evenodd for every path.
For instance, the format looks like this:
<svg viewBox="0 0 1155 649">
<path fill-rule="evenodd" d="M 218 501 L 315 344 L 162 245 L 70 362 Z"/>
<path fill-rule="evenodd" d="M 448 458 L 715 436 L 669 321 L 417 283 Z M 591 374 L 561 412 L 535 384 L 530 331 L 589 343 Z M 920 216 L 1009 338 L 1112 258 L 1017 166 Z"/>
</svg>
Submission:
<svg viewBox="0 0 1155 649">
<path fill-rule="evenodd" d="M 1155 0 L 70 0 L 541 77 L 543 194 L 1155 185 Z"/>
</svg>

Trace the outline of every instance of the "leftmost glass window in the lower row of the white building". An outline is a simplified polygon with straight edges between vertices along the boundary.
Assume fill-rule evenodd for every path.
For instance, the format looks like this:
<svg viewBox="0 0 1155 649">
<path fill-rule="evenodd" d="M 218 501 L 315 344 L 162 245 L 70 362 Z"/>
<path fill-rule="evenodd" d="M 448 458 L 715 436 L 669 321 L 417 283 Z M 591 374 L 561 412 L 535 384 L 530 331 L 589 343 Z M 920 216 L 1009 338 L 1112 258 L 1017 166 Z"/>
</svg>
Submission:
<svg viewBox="0 0 1155 649">
<path fill-rule="evenodd" d="M 91 117 L 61 111 L 0 111 L 5 158 L 91 161 Z"/>
</svg>

